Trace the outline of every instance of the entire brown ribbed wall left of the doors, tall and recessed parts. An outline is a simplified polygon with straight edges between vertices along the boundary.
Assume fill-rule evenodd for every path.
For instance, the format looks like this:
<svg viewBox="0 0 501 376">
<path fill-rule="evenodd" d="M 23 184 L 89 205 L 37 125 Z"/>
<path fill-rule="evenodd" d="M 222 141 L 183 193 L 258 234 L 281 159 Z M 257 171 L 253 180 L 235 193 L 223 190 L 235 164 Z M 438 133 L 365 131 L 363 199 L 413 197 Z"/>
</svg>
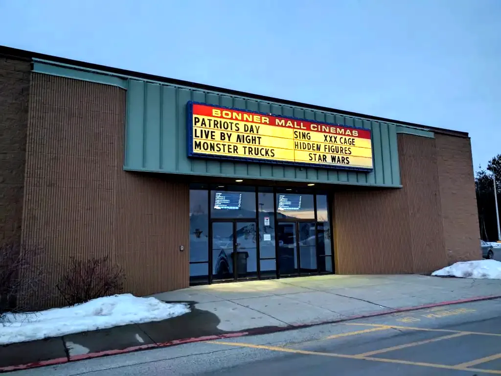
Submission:
<svg viewBox="0 0 501 376">
<path fill-rule="evenodd" d="M 50 293 L 70 257 L 105 255 L 126 291 L 187 286 L 188 188 L 123 171 L 125 91 L 34 73 L 30 96 L 23 239 L 45 249 Z"/>
</svg>

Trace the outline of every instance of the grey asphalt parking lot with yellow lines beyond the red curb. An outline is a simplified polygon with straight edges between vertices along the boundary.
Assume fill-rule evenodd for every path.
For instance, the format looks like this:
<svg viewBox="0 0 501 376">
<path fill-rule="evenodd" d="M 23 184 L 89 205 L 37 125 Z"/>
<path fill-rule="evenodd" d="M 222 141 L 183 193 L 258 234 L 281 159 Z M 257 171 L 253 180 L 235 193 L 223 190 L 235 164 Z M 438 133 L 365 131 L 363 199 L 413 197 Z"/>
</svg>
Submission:
<svg viewBox="0 0 501 376">
<path fill-rule="evenodd" d="M 35 375 L 501 374 L 501 300 L 12 372 Z"/>
</svg>

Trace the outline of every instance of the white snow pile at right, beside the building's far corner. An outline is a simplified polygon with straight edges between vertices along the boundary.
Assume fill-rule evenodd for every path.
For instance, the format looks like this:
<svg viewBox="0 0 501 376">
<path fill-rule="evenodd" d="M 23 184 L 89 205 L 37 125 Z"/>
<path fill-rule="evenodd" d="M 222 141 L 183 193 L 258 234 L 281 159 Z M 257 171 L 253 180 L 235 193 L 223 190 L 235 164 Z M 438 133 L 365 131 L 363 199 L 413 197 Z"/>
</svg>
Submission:
<svg viewBox="0 0 501 376">
<path fill-rule="evenodd" d="M 456 262 L 451 266 L 431 273 L 431 275 L 440 277 L 501 279 L 501 262 L 495 260 Z"/>
</svg>

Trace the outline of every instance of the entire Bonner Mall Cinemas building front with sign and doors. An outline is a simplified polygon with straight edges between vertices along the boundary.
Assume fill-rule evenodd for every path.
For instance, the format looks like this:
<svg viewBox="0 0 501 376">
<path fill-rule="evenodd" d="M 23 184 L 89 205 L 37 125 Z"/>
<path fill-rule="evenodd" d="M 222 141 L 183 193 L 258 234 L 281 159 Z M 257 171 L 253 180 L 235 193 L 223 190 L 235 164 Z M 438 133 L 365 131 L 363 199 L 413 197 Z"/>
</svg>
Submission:
<svg viewBox="0 0 501 376">
<path fill-rule="evenodd" d="M 48 286 L 71 257 L 137 295 L 480 258 L 467 133 L 6 47 L 0 129 L 0 242 Z"/>
</svg>

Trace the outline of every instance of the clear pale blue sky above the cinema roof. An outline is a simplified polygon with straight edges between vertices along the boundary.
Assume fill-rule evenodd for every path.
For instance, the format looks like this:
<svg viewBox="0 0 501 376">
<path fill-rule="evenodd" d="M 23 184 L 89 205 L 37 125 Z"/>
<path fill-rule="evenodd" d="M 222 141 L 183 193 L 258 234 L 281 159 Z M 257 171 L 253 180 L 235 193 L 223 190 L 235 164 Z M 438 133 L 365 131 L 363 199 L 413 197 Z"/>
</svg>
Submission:
<svg viewBox="0 0 501 376">
<path fill-rule="evenodd" d="M 0 0 L 0 45 L 469 132 L 501 153 L 501 0 Z"/>
</svg>

